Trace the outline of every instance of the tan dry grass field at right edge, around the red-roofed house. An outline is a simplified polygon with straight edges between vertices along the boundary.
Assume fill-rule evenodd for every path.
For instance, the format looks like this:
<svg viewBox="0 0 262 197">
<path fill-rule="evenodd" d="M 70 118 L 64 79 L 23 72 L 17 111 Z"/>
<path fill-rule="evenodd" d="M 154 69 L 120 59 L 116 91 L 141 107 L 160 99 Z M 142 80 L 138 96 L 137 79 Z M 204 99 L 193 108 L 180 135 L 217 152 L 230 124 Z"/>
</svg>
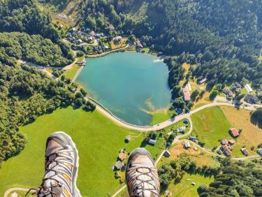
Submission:
<svg viewBox="0 0 262 197">
<path fill-rule="evenodd" d="M 256 146 L 261 143 L 262 139 L 262 129 L 252 124 L 250 121 L 250 111 L 238 110 L 228 106 L 221 106 L 221 110 L 233 127 L 242 129 L 241 135 L 235 140 L 232 154 L 234 156 L 243 156 L 240 151 L 243 146 L 247 147 L 250 155 L 256 154 Z M 253 151 L 251 150 L 252 146 L 255 147 Z"/>
</svg>

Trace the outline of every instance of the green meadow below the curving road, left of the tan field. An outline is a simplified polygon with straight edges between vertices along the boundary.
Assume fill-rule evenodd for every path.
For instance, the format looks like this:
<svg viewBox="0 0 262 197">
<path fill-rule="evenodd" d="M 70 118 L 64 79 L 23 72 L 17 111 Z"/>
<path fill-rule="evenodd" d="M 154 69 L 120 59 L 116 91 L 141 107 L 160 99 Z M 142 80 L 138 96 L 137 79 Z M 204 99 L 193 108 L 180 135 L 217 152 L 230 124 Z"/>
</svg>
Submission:
<svg viewBox="0 0 262 197">
<path fill-rule="evenodd" d="M 222 110 L 215 106 L 205 110 L 201 110 L 191 116 L 193 121 L 193 135 L 198 136 L 201 142 L 205 143 L 205 147 L 212 148 L 219 145 L 219 140 L 230 138 L 230 124 L 226 119 Z"/>
</svg>

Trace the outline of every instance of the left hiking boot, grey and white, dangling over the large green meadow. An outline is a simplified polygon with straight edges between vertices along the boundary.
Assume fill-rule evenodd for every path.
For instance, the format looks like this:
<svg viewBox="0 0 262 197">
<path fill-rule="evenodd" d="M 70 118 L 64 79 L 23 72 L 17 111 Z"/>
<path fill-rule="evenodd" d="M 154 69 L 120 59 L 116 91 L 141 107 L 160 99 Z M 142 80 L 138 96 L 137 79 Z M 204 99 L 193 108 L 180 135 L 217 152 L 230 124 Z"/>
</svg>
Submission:
<svg viewBox="0 0 262 197">
<path fill-rule="evenodd" d="M 80 197 L 77 177 L 78 149 L 75 143 L 64 132 L 52 133 L 45 147 L 45 175 L 35 194 L 40 197 Z"/>
</svg>

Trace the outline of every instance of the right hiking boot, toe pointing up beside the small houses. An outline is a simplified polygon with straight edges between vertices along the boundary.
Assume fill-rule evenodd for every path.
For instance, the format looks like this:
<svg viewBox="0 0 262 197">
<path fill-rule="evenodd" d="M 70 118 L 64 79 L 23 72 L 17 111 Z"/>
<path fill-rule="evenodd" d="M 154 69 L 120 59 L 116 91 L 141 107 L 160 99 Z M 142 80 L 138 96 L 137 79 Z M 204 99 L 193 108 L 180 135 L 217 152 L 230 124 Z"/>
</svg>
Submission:
<svg viewBox="0 0 262 197">
<path fill-rule="evenodd" d="M 145 148 L 131 152 L 126 166 L 126 184 L 130 196 L 159 196 L 159 176 L 154 159 Z"/>
</svg>

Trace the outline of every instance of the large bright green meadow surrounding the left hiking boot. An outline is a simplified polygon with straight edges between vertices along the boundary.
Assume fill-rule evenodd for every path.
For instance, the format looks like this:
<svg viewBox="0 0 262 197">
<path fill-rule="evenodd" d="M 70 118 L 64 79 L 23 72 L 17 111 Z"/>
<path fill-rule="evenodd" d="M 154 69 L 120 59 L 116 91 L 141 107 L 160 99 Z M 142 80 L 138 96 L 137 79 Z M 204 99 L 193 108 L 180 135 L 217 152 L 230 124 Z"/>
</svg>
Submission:
<svg viewBox="0 0 262 197">
<path fill-rule="evenodd" d="M 25 149 L 3 162 L 0 170 L 0 196 L 10 187 L 38 187 L 44 173 L 45 139 L 54 131 L 65 131 L 75 141 L 80 156 L 78 187 L 83 196 L 112 194 L 120 185 L 111 167 L 119 149 L 131 152 L 140 147 L 144 134 L 124 129 L 101 115 L 66 108 L 39 117 L 36 122 L 23 126 L 27 138 Z M 133 136 L 128 144 L 127 135 Z M 158 147 L 146 146 L 156 154 Z M 99 189 L 98 189 L 99 187 Z"/>
</svg>

